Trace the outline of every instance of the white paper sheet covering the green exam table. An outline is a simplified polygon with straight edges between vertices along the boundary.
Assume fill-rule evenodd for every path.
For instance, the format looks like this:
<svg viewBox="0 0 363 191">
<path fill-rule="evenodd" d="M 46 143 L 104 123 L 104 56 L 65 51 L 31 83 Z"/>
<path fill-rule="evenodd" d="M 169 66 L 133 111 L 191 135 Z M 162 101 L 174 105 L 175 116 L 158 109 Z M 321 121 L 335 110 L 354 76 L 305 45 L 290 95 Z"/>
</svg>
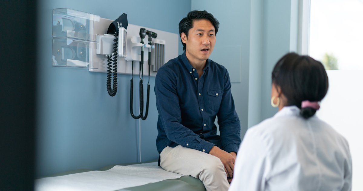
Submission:
<svg viewBox="0 0 363 191">
<path fill-rule="evenodd" d="M 35 180 L 35 191 L 114 191 L 141 186 L 183 175 L 168 172 L 158 163 L 114 166 L 107 171 L 90 171 Z"/>
</svg>

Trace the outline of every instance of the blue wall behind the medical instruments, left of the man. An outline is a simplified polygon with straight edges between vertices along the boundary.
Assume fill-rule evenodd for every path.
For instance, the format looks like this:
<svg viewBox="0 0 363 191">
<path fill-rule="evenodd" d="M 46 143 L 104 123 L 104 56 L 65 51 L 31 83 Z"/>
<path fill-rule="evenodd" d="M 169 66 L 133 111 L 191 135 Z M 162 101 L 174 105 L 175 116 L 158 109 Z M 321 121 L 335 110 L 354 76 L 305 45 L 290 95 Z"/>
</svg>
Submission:
<svg viewBox="0 0 363 191">
<path fill-rule="evenodd" d="M 131 76 L 119 75 L 117 95 L 110 97 L 106 73 L 52 67 L 52 9 L 65 7 L 111 20 L 127 13 L 131 24 L 179 33 L 179 21 L 191 10 L 191 0 L 38 1 L 36 176 L 139 161 L 139 120 L 131 118 L 129 109 Z M 181 47 L 179 42 L 179 53 Z M 142 161 L 159 156 L 155 78 L 150 81 L 149 115 L 141 122 Z M 134 89 L 138 95 L 137 83 Z"/>
</svg>

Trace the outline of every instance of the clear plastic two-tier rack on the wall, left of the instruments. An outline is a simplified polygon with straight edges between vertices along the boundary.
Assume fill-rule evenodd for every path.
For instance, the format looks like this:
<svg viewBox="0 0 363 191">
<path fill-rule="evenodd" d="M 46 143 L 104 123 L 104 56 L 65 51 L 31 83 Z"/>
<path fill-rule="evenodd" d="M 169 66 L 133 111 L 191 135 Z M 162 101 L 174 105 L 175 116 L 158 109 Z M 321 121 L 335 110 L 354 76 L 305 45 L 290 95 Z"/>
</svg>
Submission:
<svg viewBox="0 0 363 191">
<path fill-rule="evenodd" d="M 94 23 L 99 16 L 68 8 L 53 9 L 53 67 L 95 68 L 94 49 L 97 49 Z"/>
</svg>

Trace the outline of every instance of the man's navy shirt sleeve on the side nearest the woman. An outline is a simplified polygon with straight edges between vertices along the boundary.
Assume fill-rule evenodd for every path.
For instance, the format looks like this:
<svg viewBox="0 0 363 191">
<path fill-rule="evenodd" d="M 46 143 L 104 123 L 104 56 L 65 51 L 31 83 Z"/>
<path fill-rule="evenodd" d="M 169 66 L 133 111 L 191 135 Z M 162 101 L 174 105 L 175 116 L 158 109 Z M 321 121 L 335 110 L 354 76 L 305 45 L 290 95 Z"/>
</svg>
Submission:
<svg viewBox="0 0 363 191">
<path fill-rule="evenodd" d="M 224 81 L 221 106 L 217 114 L 221 143 L 224 151 L 237 152 L 241 144 L 241 122 L 234 108 L 231 80 L 227 69 L 225 69 Z"/>
</svg>

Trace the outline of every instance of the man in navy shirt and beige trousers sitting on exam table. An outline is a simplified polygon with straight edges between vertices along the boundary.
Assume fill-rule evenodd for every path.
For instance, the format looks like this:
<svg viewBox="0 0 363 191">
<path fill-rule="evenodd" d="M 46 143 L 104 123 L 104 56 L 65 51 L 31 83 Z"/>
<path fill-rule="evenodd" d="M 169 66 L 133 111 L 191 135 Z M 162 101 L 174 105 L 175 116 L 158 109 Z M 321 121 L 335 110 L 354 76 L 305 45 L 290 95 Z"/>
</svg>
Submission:
<svg viewBox="0 0 363 191">
<path fill-rule="evenodd" d="M 227 69 L 208 59 L 218 25 L 207 11 L 189 12 L 179 23 L 185 52 L 163 65 L 155 79 L 160 166 L 199 178 L 207 191 L 228 190 L 241 143 Z"/>
</svg>

